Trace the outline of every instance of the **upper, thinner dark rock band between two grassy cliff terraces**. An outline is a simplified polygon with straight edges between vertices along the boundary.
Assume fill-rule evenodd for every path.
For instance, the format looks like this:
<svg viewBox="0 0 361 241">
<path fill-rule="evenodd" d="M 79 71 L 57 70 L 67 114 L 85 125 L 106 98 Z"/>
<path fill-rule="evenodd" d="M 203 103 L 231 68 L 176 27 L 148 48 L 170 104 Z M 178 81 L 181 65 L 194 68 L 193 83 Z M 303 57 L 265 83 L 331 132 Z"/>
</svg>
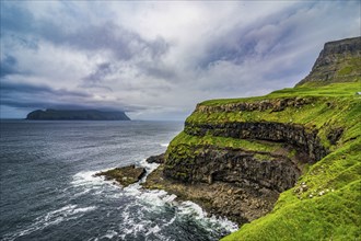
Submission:
<svg viewBox="0 0 361 241">
<path fill-rule="evenodd" d="M 307 131 L 301 125 L 271 122 L 223 123 L 216 125 L 196 125 L 186 123 L 185 133 L 195 136 L 211 134 L 213 136 L 241 139 L 260 139 L 288 142 L 300 151 L 306 153 L 310 158 L 310 163 L 321 160 L 328 153 L 327 149 L 319 142 L 317 130 Z"/>
</svg>

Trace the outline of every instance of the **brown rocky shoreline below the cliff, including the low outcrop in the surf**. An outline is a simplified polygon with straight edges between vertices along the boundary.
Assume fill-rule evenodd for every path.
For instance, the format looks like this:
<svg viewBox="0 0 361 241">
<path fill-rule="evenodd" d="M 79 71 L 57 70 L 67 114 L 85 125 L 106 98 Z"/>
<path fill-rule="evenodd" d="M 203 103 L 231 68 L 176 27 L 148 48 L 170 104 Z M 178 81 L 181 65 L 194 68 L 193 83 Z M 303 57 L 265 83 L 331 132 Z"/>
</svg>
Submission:
<svg viewBox="0 0 361 241">
<path fill-rule="evenodd" d="M 177 196 L 178 200 L 191 200 L 201 206 L 209 215 L 226 217 L 240 226 L 257 219 L 269 213 L 279 197 L 278 191 L 261 187 L 255 183 L 237 185 L 214 181 L 212 183 L 186 183 L 168 179 L 164 175 L 164 153 L 152 156 L 145 161 L 160 164 L 151 173 L 144 168 L 128 165 L 96 173 L 105 180 L 114 180 L 126 187 L 139 182 L 147 190 L 163 190 Z"/>
</svg>

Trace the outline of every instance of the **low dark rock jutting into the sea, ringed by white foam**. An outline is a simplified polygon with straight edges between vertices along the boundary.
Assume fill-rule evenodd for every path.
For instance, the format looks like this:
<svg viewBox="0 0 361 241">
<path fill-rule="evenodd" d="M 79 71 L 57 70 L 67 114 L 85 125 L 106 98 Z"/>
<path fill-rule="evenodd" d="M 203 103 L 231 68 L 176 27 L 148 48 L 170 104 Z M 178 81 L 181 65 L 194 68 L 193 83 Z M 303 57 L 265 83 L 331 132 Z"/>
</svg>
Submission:
<svg viewBox="0 0 361 241">
<path fill-rule="evenodd" d="M 136 168 L 136 165 L 128 165 L 124 168 L 116 168 L 105 172 L 98 172 L 95 175 L 104 175 L 105 180 L 115 180 L 123 186 L 128 186 L 141 180 L 145 175 L 144 168 Z"/>
</svg>

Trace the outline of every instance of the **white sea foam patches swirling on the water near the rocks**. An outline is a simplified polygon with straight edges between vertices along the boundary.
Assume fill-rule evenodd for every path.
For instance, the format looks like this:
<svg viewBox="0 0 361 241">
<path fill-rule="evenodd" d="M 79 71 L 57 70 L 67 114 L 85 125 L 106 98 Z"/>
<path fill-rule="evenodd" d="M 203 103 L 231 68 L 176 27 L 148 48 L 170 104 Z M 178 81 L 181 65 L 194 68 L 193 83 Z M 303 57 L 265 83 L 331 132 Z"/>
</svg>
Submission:
<svg viewBox="0 0 361 241">
<path fill-rule="evenodd" d="M 139 162 L 140 167 L 145 168 L 147 175 L 155 170 L 159 164 L 156 163 L 148 163 L 145 159 Z M 81 186 L 86 188 L 94 188 L 96 187 L 96 192 L 94 193 L 102 193 L 104 190 L 104 184 L 113 183 L 112 181 L 104 181 L 103 177 L 94 176 L 95 171 L 86 171 L 77 173 L 73 176 L 72 184 L 74 186 Z M 116 231 L 108 231 L 102 238 L 112 239 L 116 236 L 120 237 L 121 239 L 128 239 L 129 237 L 136 238 L 139 233 L 145 233 L 145 237 L 152 236 L 156 237 L 159 240 L 167 240 L 166 237 L 162 236 L 162 230 L 166 229 L 171 226 L 177 218 L 188 217 L 195 220 L 198 225 L 202 226 L 209 232 L 213 232 L 214 229 L 223 229 L 230 232 L 237 230 L 237 225 L 228 220 L 226 218 L 219 218 L 219 217 L 209 217 L 208 214 L 197 204 L 193 202 L 176 202 L 176 195 L 168 194 L 165 191 L 161 190 L 142 190 L 140 183 L 147 179 L 143 177 L 140 182 L 131 184 L 117 193 L 116 197 L 121 195 L 132 196 L 136 198 L 136 203 L 131 202 L 126 207 L 119 207 L 121 209 L 121 223 L 119 223 L 119 233 Z M 102 187 L 103 186 L 103 187 Z M 112 185 L 114 186 L 114 185 Z M 102 188 L 97 188 L 102 187 Z M 85 188 L 85 190 L 86 190 Z M 113 192 L 110 193 L 113 195 Z M 110 195 L 109 194 L 109 195 Z M 135 207 L 136 206 L 136 207 Z M 164 222 L 164 223 L 154 223 L 149 220 L 144 216 L 145 213 L 158 213 L 162 214 L 165 211 L 165 206 L 172 206 L 175 209 L 174 217 Z M 95 209 L 96 207 L 88 207 L 88 208 L 80 208 L 73 206 L 66 206 L 63 207 L 62 211 L 68 211 L 70 214 L 77 214 L 81 211 L 88 211 Z M 57 213 L 55 213 L 57 214 Z M 50 214 L 55 215 L 55 214 Z M 62 221 L 59 219 L 54 219 L 54 221 Z M 65 218 L 71 218 L 71 216 L 66 216 Z M 101 238 L 101 239 L 102 239 Z"/>
</svg>

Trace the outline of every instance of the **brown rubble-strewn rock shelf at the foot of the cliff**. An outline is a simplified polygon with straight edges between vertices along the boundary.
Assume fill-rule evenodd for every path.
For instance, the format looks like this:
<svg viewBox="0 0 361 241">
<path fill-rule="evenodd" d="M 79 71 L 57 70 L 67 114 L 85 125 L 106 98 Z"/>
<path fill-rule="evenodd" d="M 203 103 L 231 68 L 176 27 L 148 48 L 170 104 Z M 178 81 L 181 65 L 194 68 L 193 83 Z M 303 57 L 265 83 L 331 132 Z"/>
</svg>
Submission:
<svg viewBox="0 0 361 241">
<path fill-rule="evenodd" d="M 145 188 L 161 188 L 177 195 L 178 199 L 193 200 L 210 215 L 228 217 L 244 225 L 270 211 L 279 196 L 269 188 L 256 190 L 252 185 L 236 186 L 235 183 L 216 181 L 212 184 L 201 182 L 184 183 L 164 176 L 164 164 L 150 173 Z M 242 193 L 242 195 L 240 195 Z"/>
</svg>

